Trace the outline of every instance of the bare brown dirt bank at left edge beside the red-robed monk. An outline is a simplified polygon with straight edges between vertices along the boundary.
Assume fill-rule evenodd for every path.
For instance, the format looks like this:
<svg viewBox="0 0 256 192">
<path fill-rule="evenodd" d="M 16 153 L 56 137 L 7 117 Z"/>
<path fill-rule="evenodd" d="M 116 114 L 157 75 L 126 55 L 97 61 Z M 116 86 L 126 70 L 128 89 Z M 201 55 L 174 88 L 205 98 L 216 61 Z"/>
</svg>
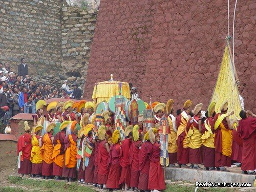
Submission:
<svg viewBox="0 0 256 192">
<path fill-rule="evenodd" d="M 9 175 L 17 175 L 17 142 L 0 141 L 0 183 L 7 182 Z M 6 153 L 15 151 L 11 153 Z"/>
</svg>

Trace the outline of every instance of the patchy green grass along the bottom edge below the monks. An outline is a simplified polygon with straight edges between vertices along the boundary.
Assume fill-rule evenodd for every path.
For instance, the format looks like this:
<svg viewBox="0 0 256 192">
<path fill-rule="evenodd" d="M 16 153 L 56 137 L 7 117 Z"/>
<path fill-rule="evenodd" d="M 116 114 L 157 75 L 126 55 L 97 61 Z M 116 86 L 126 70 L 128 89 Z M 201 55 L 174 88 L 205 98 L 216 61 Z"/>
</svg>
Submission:
<svg viewBox="0 0 256 192">
<path fill-rule="evenodd" d="M 87 192 L 95 192 L 95 190 L 88 186 L 82 186 L 77 183 L 72 183 L 68 185 L 66 182 L 59 182 L 54 180 L 34 180 L 34 179 L 23 179 L 16 176 L 10 176 L 9 181 L 11 184 L 14 184 L 17 187 L 0 187 L 0 191 L 8 191 L 8 192 L 25 192 L 28 189 L 34 189 L 33 191 L 69 191 L 69 192 L 79 192 L 79 191 L 87 191 Z M 22 188 L 23 187 L 23 188 Z M 185 185 L 178 185 L 178 184 L 167 184 L 165 192 L 175 191 L 175 192 L 190 192 L 194 191 L 194 186 L 185 186 Z M 225 189 L 225 188 L 209 188 L 209 189 L 202 189 L 199 188 L 197 191 L 208 191 L 208 192 L 231 192 L 234 191 L 233 189 Z"/>
</svg>

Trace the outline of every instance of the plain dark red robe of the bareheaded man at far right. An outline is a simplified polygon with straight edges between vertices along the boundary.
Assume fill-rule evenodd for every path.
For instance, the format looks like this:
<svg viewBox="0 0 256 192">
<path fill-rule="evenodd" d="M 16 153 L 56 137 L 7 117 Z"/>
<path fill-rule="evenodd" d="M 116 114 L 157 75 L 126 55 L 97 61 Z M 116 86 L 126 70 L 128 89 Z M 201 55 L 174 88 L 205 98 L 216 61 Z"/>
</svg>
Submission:
<svg viewBox="0 0 256 192">
<path fill-rule="evenodd" d="M 254 170 L 256 168 L 256 118 L 241 119 L 237 131 L 243 139 L 241 169 Z"/>
</svg>

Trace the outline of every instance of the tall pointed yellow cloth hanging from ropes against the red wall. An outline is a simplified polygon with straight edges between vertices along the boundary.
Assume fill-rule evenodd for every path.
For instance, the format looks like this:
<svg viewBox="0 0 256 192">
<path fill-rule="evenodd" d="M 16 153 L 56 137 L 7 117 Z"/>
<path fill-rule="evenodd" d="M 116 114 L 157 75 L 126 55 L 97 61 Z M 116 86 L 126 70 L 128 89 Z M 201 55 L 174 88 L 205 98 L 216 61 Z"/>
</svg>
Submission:
<svg viewBox="0 0 256 192">
<path fill-rule="evenodd" d="M 242 110 L 242 107 L 239 99 L 236 77 L 234 75 L 236 74 L 236 68 L 233 66 L 230 53 L 230 46 L 227 42 L 222 57 L 220 72 L 210 102 L 216 102 L 216 113 L 220 113 L 221 105 L 227 100 L 227 114 L 234 111 L 234 114 L 230 116 L 230 119 L 238 120 L 240 119 L 239 113 Z"/>
</svg>

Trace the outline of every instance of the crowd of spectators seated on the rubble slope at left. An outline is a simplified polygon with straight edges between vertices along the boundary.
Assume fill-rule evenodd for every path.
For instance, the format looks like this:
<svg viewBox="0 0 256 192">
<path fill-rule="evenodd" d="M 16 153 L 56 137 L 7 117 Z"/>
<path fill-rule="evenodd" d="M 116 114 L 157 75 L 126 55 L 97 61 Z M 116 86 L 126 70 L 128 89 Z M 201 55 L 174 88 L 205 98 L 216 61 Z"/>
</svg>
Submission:
<svg viewBox="0 0 256 192">
<path fill-rule="evenodd" d="M 52 83 L 36 82 L 29 76 L 26 59 L 20 59 L 18 72 L 8 62 L 0 62 L 0 133 L 9 125 L 9 119 L 18 113 L 36 113 L 36 102 L 51 98 L 80 99 L 81 89 L 73 83 L 73 89 L 65 80 L 62 86 Z"/>
</svg>

